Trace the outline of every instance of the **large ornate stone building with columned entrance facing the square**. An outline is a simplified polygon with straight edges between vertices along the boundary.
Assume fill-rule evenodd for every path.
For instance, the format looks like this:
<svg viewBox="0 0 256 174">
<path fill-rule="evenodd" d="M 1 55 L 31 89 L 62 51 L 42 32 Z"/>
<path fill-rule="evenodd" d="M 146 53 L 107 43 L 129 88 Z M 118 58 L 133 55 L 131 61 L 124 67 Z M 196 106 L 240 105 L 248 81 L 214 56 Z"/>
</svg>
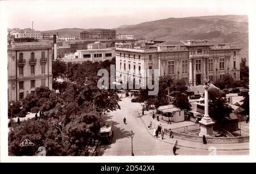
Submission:
<svg viewBox="0 0 256 174">
<path fill-rule="evenodd" d="M 240 48 L 208 40 L 174 41 L 150 49 L 115 48 L 116 80 L 135 80 L 146 85 L 147 70 L 158 70 L 160 77 L 171 75 L 190 86 L 214 81 L 230 74 L 240 79 Z"/>
</svg>

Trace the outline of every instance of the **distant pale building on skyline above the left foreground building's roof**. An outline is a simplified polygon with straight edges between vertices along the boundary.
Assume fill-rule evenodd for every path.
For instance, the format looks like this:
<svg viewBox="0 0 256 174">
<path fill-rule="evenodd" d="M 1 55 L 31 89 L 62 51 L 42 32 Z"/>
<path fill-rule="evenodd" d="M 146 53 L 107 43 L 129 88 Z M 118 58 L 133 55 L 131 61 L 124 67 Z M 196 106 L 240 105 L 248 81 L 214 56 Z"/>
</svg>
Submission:
<svg viewBox="0 0 256 174">
<path fill-rule="evenodd" d="M 35 38 L 35 39 L 42 39 L 42 33 L 40 31 L 35 31 L 35 29 L 31 28 L 14 28 L 10 31 L 11 35 L 14 35 L 15 38 Z"/>
</svg>

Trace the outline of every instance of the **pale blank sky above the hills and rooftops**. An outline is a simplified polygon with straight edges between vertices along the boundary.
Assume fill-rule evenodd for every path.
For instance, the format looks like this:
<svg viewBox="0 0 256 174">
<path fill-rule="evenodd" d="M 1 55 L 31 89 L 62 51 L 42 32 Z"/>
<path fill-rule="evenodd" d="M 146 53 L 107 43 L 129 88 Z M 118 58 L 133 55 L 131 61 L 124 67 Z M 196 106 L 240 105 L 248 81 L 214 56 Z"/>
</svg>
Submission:
<svg viewBox="0 0 256 174">
<path fill-rule="evenodd" d="M 247 15 L 251 0 L 85 0 L 2 2 L 8 28 L 116 28 L 142 22 L 206 15 Z M 2 6 L 3 7 L 3 6 Z"/>
</svg>

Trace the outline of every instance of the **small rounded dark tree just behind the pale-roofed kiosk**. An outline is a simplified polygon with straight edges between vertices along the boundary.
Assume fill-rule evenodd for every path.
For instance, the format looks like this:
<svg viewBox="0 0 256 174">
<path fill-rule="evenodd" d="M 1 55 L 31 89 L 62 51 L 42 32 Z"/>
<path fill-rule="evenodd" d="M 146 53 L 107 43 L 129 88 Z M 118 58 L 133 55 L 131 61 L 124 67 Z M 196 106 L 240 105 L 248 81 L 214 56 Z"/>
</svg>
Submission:
<svg viewBox="0 0 256 174">
<path fill-rule="evenodd" d="M 181 110 L 191 110 L 191 104 L 188 101 L 187 95 L 184 95 L 181 92 L 178 92 L 176 94 L 175 100 L 172 104 L 174 104 L 175 107 L 180 108 Z"/>
</svg>

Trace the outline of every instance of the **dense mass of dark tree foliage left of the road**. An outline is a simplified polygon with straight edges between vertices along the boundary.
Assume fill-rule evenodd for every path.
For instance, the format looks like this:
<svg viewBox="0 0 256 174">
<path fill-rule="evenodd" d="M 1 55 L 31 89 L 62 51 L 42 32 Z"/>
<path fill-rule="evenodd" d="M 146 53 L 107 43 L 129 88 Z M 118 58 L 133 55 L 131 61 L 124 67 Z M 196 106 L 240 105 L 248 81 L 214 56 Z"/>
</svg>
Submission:
<svg viewBox="0 0 256 174">
<path fill-rule="evenodd" d="M 97 87 L 97 70 L 110 71 L 112 61 L 67 64 L 65 71 L 55 72 L 55 90 L 38 87 L 22 104 L 15 103 L 15 113 L 23 106 L 27 112 L 43 111 L 44 117 L 14 124 L 9 132 L 9 155 L 36 155 L 38 147 L 46 147 L 46 155 L 84 155 L 88 146 L 99 138 L 104 125 L 102 112 L 119 108 L 115 90 Z M 54 64 L 54 62 L 53 62 Z M 63 62 L 56 63 L 63 65 Z M 110 73 L 109 73 L 110 74 Z M 63 82 L 57 82 L 61 77 Z M 19 144 L 29 139 L 32 148 Z"/>
</svg>

